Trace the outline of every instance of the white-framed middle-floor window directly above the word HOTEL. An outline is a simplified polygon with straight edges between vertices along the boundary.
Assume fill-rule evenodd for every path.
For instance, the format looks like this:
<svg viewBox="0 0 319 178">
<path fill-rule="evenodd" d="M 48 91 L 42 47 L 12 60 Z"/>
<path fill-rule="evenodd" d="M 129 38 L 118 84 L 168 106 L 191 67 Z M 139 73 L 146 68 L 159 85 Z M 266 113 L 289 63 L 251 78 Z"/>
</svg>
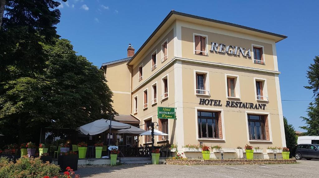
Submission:
<svg viewBox="0 0 319 178">
<path fill-rule="evenodd" d="M 194 84 L 196 95 L 209 95 L 209 73 L 207 71 L 194 70 Z"/>
</svg>

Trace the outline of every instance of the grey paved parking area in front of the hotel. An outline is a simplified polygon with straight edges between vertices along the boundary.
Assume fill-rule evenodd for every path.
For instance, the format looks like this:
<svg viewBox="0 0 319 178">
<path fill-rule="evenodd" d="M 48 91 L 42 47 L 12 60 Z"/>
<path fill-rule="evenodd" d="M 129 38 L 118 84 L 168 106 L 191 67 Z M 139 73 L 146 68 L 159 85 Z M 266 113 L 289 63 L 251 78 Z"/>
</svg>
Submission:
<svg viewBox="0 0 319 178">
<path fill-rule="evenodd" d="M 81 177 L 318 177 L 319 160 L 277 165 L 120 165 L 79 167 Z"/>
</svg>

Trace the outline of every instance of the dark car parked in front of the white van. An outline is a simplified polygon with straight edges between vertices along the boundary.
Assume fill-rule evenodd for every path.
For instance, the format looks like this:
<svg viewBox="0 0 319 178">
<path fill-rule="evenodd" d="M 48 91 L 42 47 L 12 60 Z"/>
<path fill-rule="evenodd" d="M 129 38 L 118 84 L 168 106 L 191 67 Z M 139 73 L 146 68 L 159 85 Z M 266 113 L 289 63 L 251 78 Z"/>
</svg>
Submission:
<svg viewBox="0 0 319 178">
<path fill-rule="evenodd" d="M 306 158 L 307 160 L 319 159 L 319 145 L 316 145 L 316 144 L 297 145 L 295 158 L 297 160 L 301 160 L 301 158 Z"/>
</svg>

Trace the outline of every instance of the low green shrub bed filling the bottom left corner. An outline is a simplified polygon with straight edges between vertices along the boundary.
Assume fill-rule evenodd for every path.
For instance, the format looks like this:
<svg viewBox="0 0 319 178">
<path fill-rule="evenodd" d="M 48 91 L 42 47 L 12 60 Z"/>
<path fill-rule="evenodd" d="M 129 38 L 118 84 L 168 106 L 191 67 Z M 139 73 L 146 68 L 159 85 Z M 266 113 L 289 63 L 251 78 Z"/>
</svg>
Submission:
<svg viewBox="0 0 319 178">
<path fill-rule="evenodd" d="M 23 157 L 16 163 L 5 157 L 0 158 L 0 178 L 58 176 L 60 167 L 54 164 L 42 163 L 40 158 Z"/>
</svg>

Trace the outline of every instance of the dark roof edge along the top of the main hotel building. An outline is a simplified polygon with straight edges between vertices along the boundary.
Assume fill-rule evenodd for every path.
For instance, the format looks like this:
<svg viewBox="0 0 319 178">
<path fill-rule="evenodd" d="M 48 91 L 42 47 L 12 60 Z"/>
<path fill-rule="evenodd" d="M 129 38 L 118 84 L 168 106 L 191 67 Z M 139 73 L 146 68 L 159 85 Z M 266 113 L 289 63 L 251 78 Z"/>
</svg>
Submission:
<svg viewBox="0 0 319 178">
<path fill-rule="evenodd" d="M 132 58 L 130 59 L 130 61 L 127 64 L 129 64 L 135 58 L 135 56 L 141 51 L 141 49 L 144 48 L 144 46 L 152 39 L 152 37 L 155 35 L 155 33 L 164 25 L 164 23 L 167 21 L 167 19 L 170 18 L 170 16 L 173 15 L 173 14 L 182 15 L 182 16 L 191 17 L 191 18 L 197 18 L 197 19 L 201 19 L 201 20 L 207 20 L 207 21 L 216 22 L 216 23 L 225 24 L 225 25 L 231 25 L 231 26 L 235 26 L 235 27 L 239 27 L 239 28 L 244 28 L 244 29 L 247 29 L 247 30 L 252 30 L 252 31 L 255 31 L 255 32 L 260 32 L 260 33 L 265 33 L 265 34 L 277 36 L 277 37 L 284 38 L 284 39 L 287 38 L 287 36 L 285 36 L 285 35 L 280 35 L 280 34 L 277 34 L 277 33 L 267 32 L 267 31 L 263 31 L 263 30 L 258 30 L 256 28 L 251 28 L 251 27 L 247 27 L 247 26 L 243 26 L 243 25 L 233 24 L 233 23 L 224 22 L 224 21 L 220 21 L 220 20 L 214 20 L 214 19 L 211 19 L 211 18 L 204 18 L 204 17 L 200 17 L 200 16 L 186 14 L 186 13 L 183 13 L 183 12 L 170 11 L 169 14 L 164 18 L 164 20 L 159 24 L 159 26 L 154 30 L 154 32 L 152 32 L 151 36 L 148 37 L 148 39 L 146 39 L 146 41 L 137 50 L 137 52 L 134 54 L 134 56 L 132 56 Z M 281 41 L 281 40 L 279 40 L 279 41 Z"/>
</svg>

